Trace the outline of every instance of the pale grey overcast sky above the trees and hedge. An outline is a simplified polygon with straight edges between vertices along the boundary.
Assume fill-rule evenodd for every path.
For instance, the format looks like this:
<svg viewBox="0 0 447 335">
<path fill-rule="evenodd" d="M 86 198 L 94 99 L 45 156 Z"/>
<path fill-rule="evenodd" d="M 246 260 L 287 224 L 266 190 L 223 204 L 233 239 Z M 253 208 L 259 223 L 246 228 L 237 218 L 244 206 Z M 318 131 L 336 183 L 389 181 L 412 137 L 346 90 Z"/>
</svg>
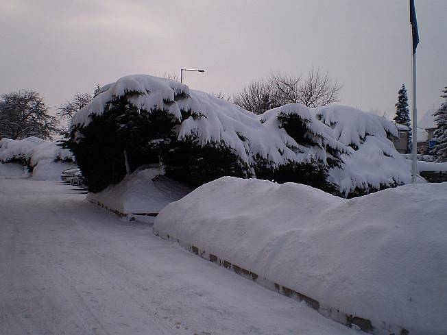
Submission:
<svg viewBox="0 0 447 335">
<path fill-rule="evenodd" d="M 0 93 L 33 89 L 49 106 L 123 75 L 186 73 L 232 95 L 253 79 L 328 71 L 340 103 L 394 116 L 411 87 L 408 0 L 0 0 Z M 447 85 L 447 1 L 416 0 L 418 110 Z"/>
</svg>

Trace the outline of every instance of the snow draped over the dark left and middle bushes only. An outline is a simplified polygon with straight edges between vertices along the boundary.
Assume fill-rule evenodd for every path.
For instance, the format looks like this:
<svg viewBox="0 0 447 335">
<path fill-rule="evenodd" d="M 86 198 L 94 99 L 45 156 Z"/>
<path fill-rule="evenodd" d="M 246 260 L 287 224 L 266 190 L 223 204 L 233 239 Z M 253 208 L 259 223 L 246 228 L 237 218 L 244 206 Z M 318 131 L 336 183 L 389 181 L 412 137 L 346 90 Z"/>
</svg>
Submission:
<svg viewBox="0 0 447 335">
<path fill-rule="evenodd" d="M 164 110 L 182 121 L 177 129 L 178 139 L 197 136 L 200 145 L 223 142 L 248 164 L 254 163 L 256 156 L 265 158 L 272 166 L 287 164 L 289 160 L 302 162 L 314 157 L 324 158 L 321 149 L 298 145 L 277 125 L 266 129 L 261 119 L 264 121 L 267 114 L 264 117 L 257 116 L 224 99 L 190 90 L 188 86 L 170 79 L 151 75 L 127 76 L 109 85 L 90 105 L 75 114 L 71 127 L 87 126 L 93 114 L 104 113 L 108 108 L 108 101 L 121 97 L 125 92 L 139 93 L 128 97 L 128 101 L 138 109 Z M 181 93 L 185 93 L 187 97 L 175 99 L 176 95 Z M 283 106 L 282 109 L 287 108 L 293 112 L 304 108 L 305 113 L 309 114 L 304 106 Z M 194 115 L 182 119 L 181 111 L 191 111 Z M 242 140 L 240 135 L 245 139 Z M 290 149 L 290 146 L 297 149 Z M 313 152 L 314 149 L 317 152 Z M 305 151 L 304 155 L 302 151 Z"/>
</svg>

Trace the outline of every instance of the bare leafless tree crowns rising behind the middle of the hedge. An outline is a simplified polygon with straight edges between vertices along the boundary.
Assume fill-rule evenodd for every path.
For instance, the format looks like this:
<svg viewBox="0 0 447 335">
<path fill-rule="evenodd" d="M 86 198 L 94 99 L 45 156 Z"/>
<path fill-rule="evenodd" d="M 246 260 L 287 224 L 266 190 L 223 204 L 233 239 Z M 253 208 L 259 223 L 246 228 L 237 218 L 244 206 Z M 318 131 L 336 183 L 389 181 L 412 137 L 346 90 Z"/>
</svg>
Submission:
<svg viewBox="0 0 447 335">
<path fill-rule="evenodd" d="M 272 73 L 268 79 L 252 82 L 233 97 L 233 102 L 256 114 L 283 106 L 302 103 L 315 108 L 339 101 L 341 85 L 332 82 L 328 73 L 312 69 L 306 77 Z"/>
</svg>

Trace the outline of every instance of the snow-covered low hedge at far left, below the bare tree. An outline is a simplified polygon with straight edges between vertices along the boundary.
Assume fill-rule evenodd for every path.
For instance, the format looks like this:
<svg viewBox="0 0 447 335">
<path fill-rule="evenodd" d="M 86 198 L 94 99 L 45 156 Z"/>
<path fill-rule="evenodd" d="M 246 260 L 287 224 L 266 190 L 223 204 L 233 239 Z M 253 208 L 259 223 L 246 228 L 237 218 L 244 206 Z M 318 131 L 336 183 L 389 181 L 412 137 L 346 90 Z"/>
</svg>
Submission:
<svg viewBox="0 0 447 335">
<path fill-rule="evenodd" d="M 73 154 L 56 142 L 28 137 L 23 140 L 0 140 L 0 162 L 21 162 L 32 169 L 32 177 L 40 180 L 58 180 L 64 169 L 74 166 Z"/>
</svg>

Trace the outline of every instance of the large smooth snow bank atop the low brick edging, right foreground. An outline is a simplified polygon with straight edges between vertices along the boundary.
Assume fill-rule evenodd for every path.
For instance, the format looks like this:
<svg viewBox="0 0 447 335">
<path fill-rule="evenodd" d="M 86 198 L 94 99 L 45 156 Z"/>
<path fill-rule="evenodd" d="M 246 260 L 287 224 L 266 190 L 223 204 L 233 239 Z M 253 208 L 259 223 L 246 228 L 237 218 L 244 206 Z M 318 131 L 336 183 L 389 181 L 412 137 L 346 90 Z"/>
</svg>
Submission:
<svg viewBox="0 0 447 335">
<path fill-rule="evenodd" d="M 447 183 L 343 199 L 222 177 L 170 203 L 154 232 L 370 319 L 377 334 L 447 329 Z M 389 332 L 383 330 L 387 328 Z"/>
</svg>

